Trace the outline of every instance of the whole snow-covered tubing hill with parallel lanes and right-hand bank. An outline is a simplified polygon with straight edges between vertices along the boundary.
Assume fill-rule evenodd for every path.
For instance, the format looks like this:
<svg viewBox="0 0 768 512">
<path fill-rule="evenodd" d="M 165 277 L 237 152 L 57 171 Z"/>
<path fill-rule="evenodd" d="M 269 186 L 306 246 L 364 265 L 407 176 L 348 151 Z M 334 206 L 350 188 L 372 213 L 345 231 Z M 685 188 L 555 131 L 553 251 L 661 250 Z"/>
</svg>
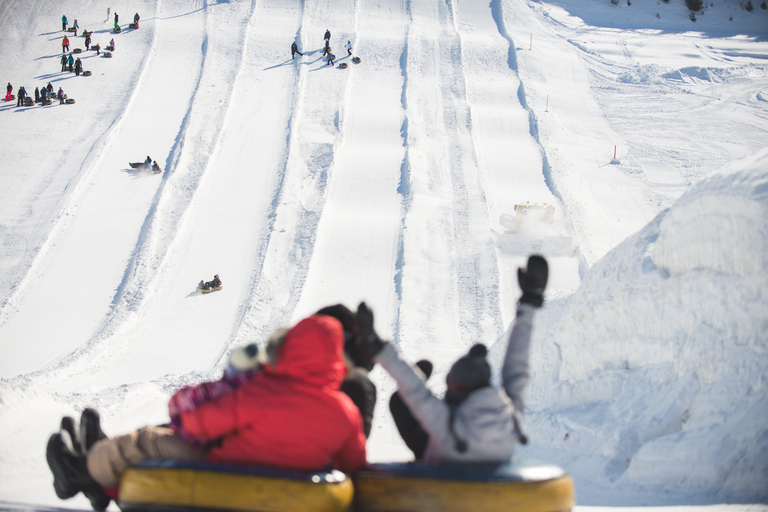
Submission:
<svg viewBox="0 0 768 512">
<path fill-rule="evenodd" d="M 473 343 L 498 364 L 531 252 L 517 456 L 582 506 L 768 503 L 768 10 L 739 4 L 3 2 L 14 93 L 76 103 L 0 102 L 0 509 L 86 506 L 50 485 L 62 415 L 164 422 L 325 305 L 366 300 L 442 392 Z M 91 76 L 60 71 L 62 14 L 115 41 Z M 405 460 L 372 376 L 369 459 Z"/>
</svg>

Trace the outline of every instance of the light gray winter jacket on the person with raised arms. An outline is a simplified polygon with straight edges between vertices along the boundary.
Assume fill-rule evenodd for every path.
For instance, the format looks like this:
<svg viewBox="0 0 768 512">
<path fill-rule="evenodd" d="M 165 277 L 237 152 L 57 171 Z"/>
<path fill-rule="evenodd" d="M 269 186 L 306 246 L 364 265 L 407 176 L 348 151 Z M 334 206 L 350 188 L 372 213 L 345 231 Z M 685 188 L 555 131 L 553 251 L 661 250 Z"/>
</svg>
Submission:
<svg viewBox="0 0 768 512">
<path fill-rule="evenodd" d="M 515 411 L 523 411 L 529 378 L 534 311 L 528 304 L 518 307 L 502 368 L 504 389 L 484 387 L 470 393 L 454 410 L 453 434 L 450 406 L 432 394 L 420 374 L 389 343 L 377 354 L 376 361 L 397 381 L 403 401 L 429 434 L 425 461 L 503 462 L 512 457 L 517 444 Z M 466 451 L 457 449 L 457 439 L 466 442 Z"/>
</svg>

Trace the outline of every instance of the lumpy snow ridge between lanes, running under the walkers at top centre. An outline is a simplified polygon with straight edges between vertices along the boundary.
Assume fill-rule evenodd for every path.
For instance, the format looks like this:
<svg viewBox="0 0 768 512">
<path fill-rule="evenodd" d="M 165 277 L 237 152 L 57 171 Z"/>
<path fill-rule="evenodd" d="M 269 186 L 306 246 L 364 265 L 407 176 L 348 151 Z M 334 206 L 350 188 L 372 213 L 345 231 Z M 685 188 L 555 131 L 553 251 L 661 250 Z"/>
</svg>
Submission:
<svg viewBox="0 0 768 512">
<path fill-rule="evenodd" d="M 302 6 L 301 26 L 295 33 L 301 36 L 297 42 L 304 56 L 292 63 L 298 81 L 287 158 L 277 169 L 280 183 L 271 228 L 254 291 L 236 334 L 239 340 L 263 342 L 276 327 L 298 320 L 296 307 L 316 251 L 318 226 L 337 165 L 348 75 L 326 64 L 323 34 L 331 30 L 332 51 L 341 61 L 341 40 L 346 42 L 344 36 L 352 38 L 354 32 L 355 2 L 309 1 Z M 289 45 L 286 40 L 286 51 Z"/>
</svg>

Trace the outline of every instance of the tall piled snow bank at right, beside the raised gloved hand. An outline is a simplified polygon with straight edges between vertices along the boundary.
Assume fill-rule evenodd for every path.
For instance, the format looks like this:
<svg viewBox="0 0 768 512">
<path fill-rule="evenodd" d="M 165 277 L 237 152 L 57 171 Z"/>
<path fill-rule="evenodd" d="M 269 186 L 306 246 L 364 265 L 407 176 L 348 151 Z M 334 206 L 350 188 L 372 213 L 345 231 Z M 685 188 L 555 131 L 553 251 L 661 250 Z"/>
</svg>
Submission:
<svg viewBox="0 0 768 512">
<path fill-rule="evenodd" d="M 764 150 L 691 186 L 541 311 L 528 450 L 581 497 L 768 499 L 767 289 Z"/>
</svg>

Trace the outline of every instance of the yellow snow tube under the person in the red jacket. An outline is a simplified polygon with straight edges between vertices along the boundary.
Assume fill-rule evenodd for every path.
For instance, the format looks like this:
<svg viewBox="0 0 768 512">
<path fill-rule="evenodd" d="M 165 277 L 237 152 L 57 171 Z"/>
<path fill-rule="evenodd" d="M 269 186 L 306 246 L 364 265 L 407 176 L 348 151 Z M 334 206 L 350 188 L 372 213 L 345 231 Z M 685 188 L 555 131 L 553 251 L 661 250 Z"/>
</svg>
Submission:
<svg viewBox="0 0 768 512">
<path fill-rule="evenodd" d="M 285 471 L 146 461 L 120 480 L 123 512 L 346 512 L 352 481 L 340 471 Z"/>
</svg>

